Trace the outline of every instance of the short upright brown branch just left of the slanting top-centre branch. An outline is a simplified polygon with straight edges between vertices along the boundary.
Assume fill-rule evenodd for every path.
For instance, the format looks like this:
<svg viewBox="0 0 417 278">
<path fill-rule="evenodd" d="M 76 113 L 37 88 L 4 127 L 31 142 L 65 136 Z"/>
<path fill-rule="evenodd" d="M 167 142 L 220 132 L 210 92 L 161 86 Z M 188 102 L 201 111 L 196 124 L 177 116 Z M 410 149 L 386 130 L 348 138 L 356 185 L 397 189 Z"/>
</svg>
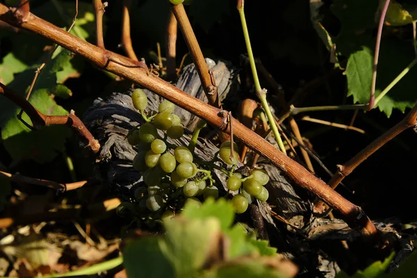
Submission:
<svg viewBox="0 0 417 278">
<path fill-rule="evenodd" d="M 173 81 L 177 78 L 177 70 L 175 68 L 175 57 L 177 56 L 177 26 L 177 19 L 175 19 L 175 15 L 171 10 L 166 33 L 167 81 Z"/>
</svg>

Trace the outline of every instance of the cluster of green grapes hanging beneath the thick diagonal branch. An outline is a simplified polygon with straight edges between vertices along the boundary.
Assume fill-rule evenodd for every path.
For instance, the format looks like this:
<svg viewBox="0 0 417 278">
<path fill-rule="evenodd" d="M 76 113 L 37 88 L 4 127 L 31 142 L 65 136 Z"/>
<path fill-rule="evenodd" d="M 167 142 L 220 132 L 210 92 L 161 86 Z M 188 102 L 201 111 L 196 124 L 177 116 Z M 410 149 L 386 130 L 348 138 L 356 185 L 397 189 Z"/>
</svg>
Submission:
<svg viewBox="0 0 417 278">
<path fill-rule="evenodd" d="M 234 172 L 238 164 L 238 145 L 231 141 L 223 142 L 218 157 L 205 163 L 209 170 L 199 169 L 195 163 L 193 147 L 174 146 L 167 142 L 167 138 L 179 139 L 183 136 L 183 126 L 179 117 L 172 112 L 174 104 L 164 100 L 158 106 L 158 112 L 147 116 L 147 96 L 145 92 L 136 89 L 132 94 L 133 106 L 140 111 L 146 123 L 139 129 L 129 132 L 127 140 L 136 146 L 138 153 L 133 159 L 133 168 L 142 173 L 147 188 L 140 187 L 135 191 L 135 199 L 139 206 L 146 207 L 152 212 L 163 212 L 168 202 L 180 195 L 188 198 L 187 202 L 199 202 L 199 196 L 218 198 L 219 190 L 213 185 L 211 170 L 215 162 L 222 161 L 231 165 L 227 174 L 227 188 L 231 191 L 239 190 L 239 194 L 231 199 L 236 213 L 243 213 L 254 198 L 261 201 L 268 199 L 268 190 L 263 186 L 269 181 L 264 170 L 252 170 L 250 176 Z M 163 131 L 164 136 L 158 134 Z M 224 165 L 224 164 L 222 164 Z M 227 168 L 226 166 L 225 168 Z M 207 184 L 208 183 L 208 184 Z M 166 210 L 161 218 L 172 217 L 172 211 Z"/>
</svg>

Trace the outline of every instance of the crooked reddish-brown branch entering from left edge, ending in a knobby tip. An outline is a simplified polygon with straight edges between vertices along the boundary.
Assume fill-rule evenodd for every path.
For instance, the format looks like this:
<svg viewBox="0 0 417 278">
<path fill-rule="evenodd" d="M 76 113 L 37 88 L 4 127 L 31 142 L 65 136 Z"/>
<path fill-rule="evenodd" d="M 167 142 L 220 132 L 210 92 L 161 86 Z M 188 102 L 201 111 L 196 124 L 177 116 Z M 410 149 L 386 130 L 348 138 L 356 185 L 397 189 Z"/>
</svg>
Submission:
<svg viewBox="0 0 417 278">
<path fill-rule="evenodd" d="M 38 111 L 35 107 L 33 107 L 29 101 L 8 89 L 3 83 L 0 83 L 0 95 L 4 95 L 15 104 L 17 104 L 17 106 L 22 108 L 22 110 L 31 119 L 33 128 L 40 129 L 43 126 L 49 126 L 51 124 L 65 124 L 66 126 L 70 126 L 72 129 L 79 133 L 83 143 L 85 144 L 85 147 L 91 149 L 91 151 L 95 154 L 99 152 L 99 142 L 95 140 L 90 131 L 88 131 L 83 122 L 81 122 L 79 117 L 74 114 L 74 111 L 71 111 L 70 114 L 66 116 L 44 115 L 40 113 L 40 111 Z"/>
</svg>

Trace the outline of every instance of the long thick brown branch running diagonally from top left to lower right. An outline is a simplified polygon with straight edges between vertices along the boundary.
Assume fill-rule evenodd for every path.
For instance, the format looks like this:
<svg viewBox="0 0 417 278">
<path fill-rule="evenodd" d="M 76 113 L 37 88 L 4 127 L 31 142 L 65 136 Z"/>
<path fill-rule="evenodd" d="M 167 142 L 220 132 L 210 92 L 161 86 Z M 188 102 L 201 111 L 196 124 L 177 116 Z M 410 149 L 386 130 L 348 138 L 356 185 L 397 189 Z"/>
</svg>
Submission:
<svg viewBox="0 0 417 278">
<path fill-rule="evenodd" d="M 137 63 L 129 58 L 89 44 L 35 15 L 31 15 L 30 21 L 19 23 L 13 13 L 10 12 L 10 9 L 3 4 L 0 4 L 0 20 L 13 24 L 19 28 L 32 31 L 38 35 L 42 35 L 44 38 L 52 40 L 62 47 L 83 56 L 97 67 L 103 67 L 109 72 L 123 76 L 126 79 L 152 90 L 152 92 L 155 92 L 157 95 L 160 95 L 161 97 L 172 101 L 174 104 L 177 104 L 177 106 L 186 109 L 186 111 L 190 111 L 198 117 L 201 117 L 213 126 L 220 128 L 223 124 L 222 117 L 218 116 L 220 112 L 219 108 L 206 104 L 203 101 L 186 94 L 186 92 L 179 90 L 174 87 L 174 85 L 148 74 L 147 70 L 142 67 L 124 66 L 124 64 L 135 65 Z M 233 122 L 234 136 L 241 142 L 255 152 L 262 154 L 265 158 L 268 158 L 274 165 L 286 172 L 288 177 L 293 179 L 299 186 L 311 191 L 332 206 L 332 208 L 340 211 L 341 215 L 343 215 L 343 218 L 352 229 L 357 229 L 361 234 L 369 236 L 370 238 L 375 238 L 375 236 L 377 236 L 377 229 L 359 206 L 347 201 L 347 199 L 332 190 L 332 188 L 311 174 L 302 165 L 279 152 L 273 145 L 263 140 L 261 136 L 252 132 L 250 129 L 247 129 L 243 124 L 240 124 L 234 117 L 231 117 L 230 120 Z M 223 131 L 230 133 L 229 126 L 230 125 L 227 125 Z"/>
</svg>

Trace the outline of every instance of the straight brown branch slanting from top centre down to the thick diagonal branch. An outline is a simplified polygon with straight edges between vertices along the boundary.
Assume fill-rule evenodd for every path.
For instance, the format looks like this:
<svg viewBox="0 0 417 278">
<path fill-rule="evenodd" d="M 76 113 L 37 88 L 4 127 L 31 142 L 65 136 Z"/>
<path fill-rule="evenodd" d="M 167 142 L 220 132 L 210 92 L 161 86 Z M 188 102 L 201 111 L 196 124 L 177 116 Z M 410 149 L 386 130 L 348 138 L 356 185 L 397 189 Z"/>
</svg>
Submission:
<svg viewBox="0 0 417 278">
<path fill-rule="evenodd" d="M 171 7 L 172 13 L 174 13 L 179 24 L 179 28 L 181 28 L 183 33 L 184 40 L 186 40 L 188 50 L 190 50 L 190 55 L 191 58 L 193 58 L 199 78 L 202 81 L 202 87 L 206 93 L 208 103 L 217 108 L 221 108 L 222 104 L 220 103 L 220 98 L 218 97 L 217 87 L 211 80 L 206 60 L 204 59 L 202 50 L 199 47 L 197 38 L 195 38 L 193 27 L 191 27 L 190 20 L 188 20 L 186 10 L 184 10 L 183 4 L 172 5 Z"/>
</svg>

